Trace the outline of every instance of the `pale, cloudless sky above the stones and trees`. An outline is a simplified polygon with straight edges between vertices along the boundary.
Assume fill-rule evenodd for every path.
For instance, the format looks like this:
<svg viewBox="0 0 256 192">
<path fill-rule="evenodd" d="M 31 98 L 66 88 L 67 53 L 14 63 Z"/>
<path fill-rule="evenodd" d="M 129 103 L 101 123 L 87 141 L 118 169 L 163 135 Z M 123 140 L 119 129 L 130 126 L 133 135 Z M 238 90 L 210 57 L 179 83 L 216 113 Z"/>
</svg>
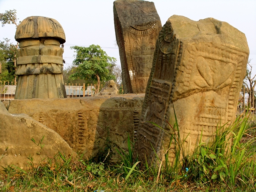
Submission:
<svg viewBox="0 0 256 192">
<path fill-rule="evenodd" d="M 256 0 L 152 0 L 162 25 L 172 15 L 191 20 L 213 17 L 225 21 L 243 32 L 250 49 L 249 59 L 256 74 Z M 16 9 L 22 21 L 29 16 L 51 17 L 64 29 L 64 68 L 72 65 L 72 46 L 88 47 L 98 44 L 115 57 L 120 65 L 119 50 L 113 22 L 113 0 L 0 0 L 0 13 Z M 0 26 L 0 41 L 15 41 L 15 25 Z"/>
</svg>

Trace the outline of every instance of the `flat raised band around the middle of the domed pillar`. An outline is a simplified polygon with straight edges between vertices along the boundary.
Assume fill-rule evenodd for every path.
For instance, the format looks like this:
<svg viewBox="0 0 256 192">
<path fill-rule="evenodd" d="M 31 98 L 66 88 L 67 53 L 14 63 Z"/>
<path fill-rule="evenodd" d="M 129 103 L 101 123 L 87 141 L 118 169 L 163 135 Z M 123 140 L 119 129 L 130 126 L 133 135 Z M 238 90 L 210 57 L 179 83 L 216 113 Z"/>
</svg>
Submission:
<svg viewBox="0 0 256 192">
<path fill-rule="evenodd" d="M 63 58 L 58 56 L 25 56 L 17 58 L 17 65 L 33 63 L 55 63 L 63 65 Z"/>
</svg>

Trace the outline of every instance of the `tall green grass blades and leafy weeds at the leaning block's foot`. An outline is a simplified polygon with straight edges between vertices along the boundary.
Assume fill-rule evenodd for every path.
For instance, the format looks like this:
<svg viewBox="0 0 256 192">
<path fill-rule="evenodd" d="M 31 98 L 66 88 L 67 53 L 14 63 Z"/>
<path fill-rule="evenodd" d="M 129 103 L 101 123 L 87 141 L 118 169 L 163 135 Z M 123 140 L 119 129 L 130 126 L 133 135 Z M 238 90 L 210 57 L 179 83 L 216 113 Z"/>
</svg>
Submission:
<svg viewBox="0 0 256 192">
<path fill-rule="evenodd" d="M 198 145 L 192 154 L 186 154 L 184 143 L 187 136 L 180 136 L 175 115 L 174 125 L 169 124 L 172 128 L 172 134 L 170 134 L 169 146 L 166 147 L 164 154 L 165 159 L 160 160 L 157 157 L 159 160 L 158 167 L 154 165 L 148 167 L 148 163 L 143 162 L 146 169 L 141 173 L 155 177 L 156 182 L 167 180 L 171 183 L 182 181 L 207 185 L 219 183 L 226 185 L 228 189 L 250 184 L 254 188 L 254 181 L 256 181 L 254 148 L 256 138 L 252 137 L 246 142 L 241 142 L 241 138 L 249 130 L 249 118 L 247 114 L 244 117 L 240 116 L 229 126 L 227 124 L 221 126 L 220 122 L 207 143 L 202 142 L 202 131 L 201 135 L 198 136 Z M 160 126 L 151 123 L 163 130 Z M 128 144 L 128 148 L 132 148 L 131 143 Z M 175 155 L 172 162 L 168 158 L 170 152 Z M 137 160 L 132 161 L 132 151 L 119 154 L 122 157 L 122 163 L 125 167 L 128 166 L 129 170 L 132 166 L 137 165 Z M 157 156 L 157 153 L 155 155 Z M 164 165 L 163 161 L 165 161 Z M 124 169 L 126 169 L 125 167 Z M 125 173 L 128 173 L 128 169 L 125 170 Z"/>
</svg>

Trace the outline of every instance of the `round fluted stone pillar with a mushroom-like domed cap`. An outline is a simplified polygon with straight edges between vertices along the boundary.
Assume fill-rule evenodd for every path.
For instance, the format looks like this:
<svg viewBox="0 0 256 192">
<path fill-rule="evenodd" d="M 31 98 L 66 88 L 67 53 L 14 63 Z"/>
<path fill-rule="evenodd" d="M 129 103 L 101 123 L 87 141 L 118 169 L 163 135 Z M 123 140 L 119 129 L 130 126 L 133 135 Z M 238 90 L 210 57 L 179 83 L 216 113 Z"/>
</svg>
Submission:
<svg viewBox="0 0 256 192">
<path fill-rule="evenodd" d="M 17 27 L 15 40 L 20 43 L 15 99 L 66 98 L 61 24 L 48 17 L 27 17 Z"/>
</svg>

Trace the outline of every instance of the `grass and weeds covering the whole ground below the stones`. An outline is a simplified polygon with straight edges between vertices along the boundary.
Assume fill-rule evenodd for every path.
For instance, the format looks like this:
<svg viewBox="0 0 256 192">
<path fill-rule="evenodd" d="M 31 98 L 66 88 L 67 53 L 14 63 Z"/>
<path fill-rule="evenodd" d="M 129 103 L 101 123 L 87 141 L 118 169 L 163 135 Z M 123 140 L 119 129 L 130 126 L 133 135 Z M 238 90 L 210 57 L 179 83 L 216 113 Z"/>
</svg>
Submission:
<svg viewBox="0 0 256 192">
<path fill-rule="evenodd" d="M 56 158 L 62 161 L 30 163 L 26 171 L 8 167 L 0 174 L 0 191 L 256 191 L 255 125 L 256 119 L 245 116 L 226 129 L 218 126 L 211 142 L 199 139 L 189 156 L 183 154 L 179 134 L 173 134 L 179 157 L 159 167 L 133 160 L 130 139 L 127 153 L 116 149 L 118 163 L 104 162 L 106 157 L 96 163 L 59 154 Z M 172 127 L 179 132 L 177 121 Z"/>
</svg>

